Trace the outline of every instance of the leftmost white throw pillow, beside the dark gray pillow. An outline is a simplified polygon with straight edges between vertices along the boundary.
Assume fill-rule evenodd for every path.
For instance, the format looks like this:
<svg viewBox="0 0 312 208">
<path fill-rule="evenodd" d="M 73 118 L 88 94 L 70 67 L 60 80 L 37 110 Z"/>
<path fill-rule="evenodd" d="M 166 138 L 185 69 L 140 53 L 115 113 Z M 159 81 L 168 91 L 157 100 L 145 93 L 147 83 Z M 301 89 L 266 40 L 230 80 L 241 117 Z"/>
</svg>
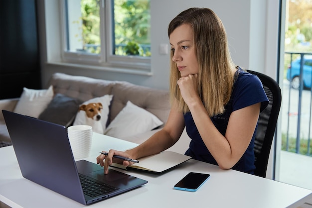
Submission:
<svg viewBox="0 0 312 208">
<path fill-rule="evenodd" d="M 23 93 L 13 111 L 22 115 L 38 118 L 40 113 L 52 101 L 53 94 L 52 85 L 47 90 L 23 88 Z"/>
</svg>

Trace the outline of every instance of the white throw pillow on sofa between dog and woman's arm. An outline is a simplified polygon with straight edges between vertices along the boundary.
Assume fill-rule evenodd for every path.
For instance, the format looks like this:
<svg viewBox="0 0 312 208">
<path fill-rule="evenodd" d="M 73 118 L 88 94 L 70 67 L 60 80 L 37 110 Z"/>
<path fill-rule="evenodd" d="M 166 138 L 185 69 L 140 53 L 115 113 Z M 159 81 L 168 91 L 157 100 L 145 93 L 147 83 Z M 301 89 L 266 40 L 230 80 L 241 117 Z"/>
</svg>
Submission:
<svg viewBox="0 0 312 208">
<path fill-rule="evenodd" d="M 116 138 L 131 136 L 151 131 L 162 124 L 156 115 L 128 101 L 104 134 Z"/>
</svg>

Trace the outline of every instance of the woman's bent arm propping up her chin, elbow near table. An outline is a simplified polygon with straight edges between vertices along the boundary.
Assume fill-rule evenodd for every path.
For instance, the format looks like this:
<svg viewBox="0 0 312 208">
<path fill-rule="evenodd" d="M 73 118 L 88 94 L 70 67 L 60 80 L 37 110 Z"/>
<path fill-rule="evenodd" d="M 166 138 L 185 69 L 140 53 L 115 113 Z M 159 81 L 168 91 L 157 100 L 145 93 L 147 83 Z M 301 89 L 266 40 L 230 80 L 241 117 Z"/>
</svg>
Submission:
<svg viewBox="0 0 312 208">
<path fill-rule="evenodd" d="M 195 74 L 178 80 L 181 95 L 209 152 L 221 169 L 230 169 L 243 156 L 252 139 L 260 114 L 260 103 L 233 111 L 223 136 L 199 98 L 197 77 Z"/>
</svg>

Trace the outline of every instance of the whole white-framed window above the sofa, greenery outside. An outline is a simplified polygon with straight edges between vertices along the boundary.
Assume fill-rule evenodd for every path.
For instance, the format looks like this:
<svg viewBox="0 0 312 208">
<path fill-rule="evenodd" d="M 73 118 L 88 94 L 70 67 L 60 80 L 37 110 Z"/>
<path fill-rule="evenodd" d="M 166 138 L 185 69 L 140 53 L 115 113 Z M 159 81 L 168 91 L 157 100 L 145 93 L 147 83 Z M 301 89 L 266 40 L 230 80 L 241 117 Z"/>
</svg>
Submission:
<svg viewBox="0 0 312 208">
<path fill-rule="evenodd" d="M 63 0 L 63 61 L 150 71 L 150 0 Z"/>
</svg>

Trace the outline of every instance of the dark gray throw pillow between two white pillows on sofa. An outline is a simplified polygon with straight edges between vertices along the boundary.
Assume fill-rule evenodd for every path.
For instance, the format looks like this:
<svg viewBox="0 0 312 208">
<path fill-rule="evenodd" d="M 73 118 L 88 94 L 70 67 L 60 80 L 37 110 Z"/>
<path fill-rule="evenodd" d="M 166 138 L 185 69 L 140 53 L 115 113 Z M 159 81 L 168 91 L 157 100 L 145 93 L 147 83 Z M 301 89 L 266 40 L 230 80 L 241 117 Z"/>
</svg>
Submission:
<svg viewBox="0 0 312 208">
<path fill-rule="evenodd" d="M 80 104 L 78 99 L 56 94 L 38 118 L 68 127 L 73 123 Z"/>
</svg>

